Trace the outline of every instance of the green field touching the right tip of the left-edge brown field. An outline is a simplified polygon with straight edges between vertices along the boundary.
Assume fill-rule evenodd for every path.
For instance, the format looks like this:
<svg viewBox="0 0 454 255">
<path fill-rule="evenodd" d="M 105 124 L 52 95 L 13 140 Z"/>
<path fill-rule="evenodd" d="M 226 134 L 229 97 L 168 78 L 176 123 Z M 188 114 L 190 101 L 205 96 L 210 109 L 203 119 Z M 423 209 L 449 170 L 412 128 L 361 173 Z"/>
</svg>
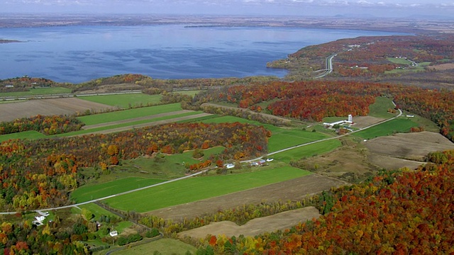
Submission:
<svg viewBox="0 0 454 255">
<path fill-rule="evenodd" d="M 119 94 L 101 96 L 78 96 L 77 98 L 96 103 L 104 103 L 108 106 L 131 108 L 132 106 L 146 106 L 148 105 L 148 103 L 160 103 L 162 96 L 147 94 Z"/>
</svg>

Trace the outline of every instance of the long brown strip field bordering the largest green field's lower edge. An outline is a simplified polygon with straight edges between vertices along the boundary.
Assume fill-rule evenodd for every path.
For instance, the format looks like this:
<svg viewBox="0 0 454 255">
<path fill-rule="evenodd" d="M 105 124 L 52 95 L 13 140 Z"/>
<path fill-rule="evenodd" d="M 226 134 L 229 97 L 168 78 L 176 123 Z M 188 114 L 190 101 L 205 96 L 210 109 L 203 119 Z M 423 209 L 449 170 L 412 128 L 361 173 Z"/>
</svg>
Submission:
<svg viewBox="0 0 454 255">
<path fill-rule="evenodd" d="M 225 196 L 209 198 L 170 208 L 147 212 L 167 220 L 181 221 L 184 218 L 200 217 L 206 213 L 237 208 L 243 205 L 257 205 L 287 200 L 302 200 L 315 193 L 326 191 L 331 187 L 343 186 L 346 183 L 318 174 L 311 174 L 297 179 L 270 184 L 248 191 L 240 191 Z"/>
</svg>

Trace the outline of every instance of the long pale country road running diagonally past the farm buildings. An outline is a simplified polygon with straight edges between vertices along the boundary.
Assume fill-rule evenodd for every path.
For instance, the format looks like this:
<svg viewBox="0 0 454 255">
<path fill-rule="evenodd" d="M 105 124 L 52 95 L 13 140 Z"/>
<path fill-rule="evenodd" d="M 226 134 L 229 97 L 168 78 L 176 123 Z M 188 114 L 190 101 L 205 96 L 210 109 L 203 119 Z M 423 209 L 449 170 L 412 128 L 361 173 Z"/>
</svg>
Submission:
<svg viewBox="0 0 454 255">
<path fill-rule="evenodd" d="M 334 57 L 334 55 L 332 55 Z M 394 104 L 394 106 L 396 106 L 396 104 L 394 103 L 394 101 L 392 102 Z M 316 140 L 314 142 L 307 142 L 305 144 L 302 144 L 302 145 L 295 145 L 295 146 L 292 146 L 292 147 L 288 147 L 288 148 L 285 148 L 285 149 L 281 149 L 277 152 L 271 152 L 270 154 L 267 154 L 267 156 L 271 156 L 271 155 L 274 155 L 274 154 L 277 154 L 279 152 L 285 152 L 289 149 L 295 149 L 295 148 L 298 148 L 298 147 L 303 147 L 303 146 L 307 146 L 307 145 L 313 145 L 317 142 L 323 142 L 323 141 L 328 141 L 328 140 L 334 140 L 334 139 L 338 139 L 339 137 L 343 137 L 343 136 L 346 136 L 346 135 L 350 135 L 350 134 L 353 134 L 354 132 L 359 132 L 359 131 L 362 131 L 362 130 L 366 130 L 367 128 L 372 128 L 372 127 L 375 127 L 376 125 L 380 125 L 382 123 L 385 123 L 389 120 L 394 120 L 395 118 L 398 118 L 402 115 L 402 111 L 400 109 L 399 110 L 399 115 L 393 117 L 393 118 L 389 118 L 387 120 L 383 120 L 383 121 L 380 121 L 379 123 L 375 123 L 375 124 L 372 124 L 372 125 L 369 125 L 365 128 L 361 128 L 359 130 L 355 130 L 353 132 L 349 132 L 345 135 L 338 135 L 336 137 L 328 137 L 328 138 L 325 138 L 325 139 L 322 139 L 322 140 Z M 255 160 L 258 160 L 258 159 L 262 159 L 262 157 L 258 157 L 256 159 L 250 159 L 250 160 L 245 160 L 245 161 L 242 161 L 242 163 L 245 163 L 245 162 L 253 162 Z M 77 207 L 79 205 L 85 205 L 85 204 L 88 204 L 88 203 L 94 203 L 94 202 L 98 202 L 98 201 L 101 201 L 101 200 L 106 200 L 108 198 L 114 198 L 116 196 L 121 196 L 121 195 L 124 195 L 124 194 L 128 194 L 128 193 L 133 193 L 135 191 L 142 191 L 144 189 L 147 189 L 147 188 L 153 188 L 155 186 L 160 186 L 160 185 L 163 185 L 163 184 L 166 184 L 166 183 L 171 183 L 171 182 L 174 182 L 174 181 L 180 181 L 180 180 L 183 180 L 183 179 L 188 179 L 188 178 L 191 178 L 193 176 L 197 176 L 199 174 L 203 174 L 205 173 L 206 171 L 209 171 L 210 169 L 206 169 L 204 171 L 199 171 L 195 174 L 191 174 L 189 176 L 183 176 L 183 177 L 180 177 L 180 178 L 177 178 L 177 179 L 172 179 L 170 181 L 164 181 L 162 183 L 157 183 L 157 184 L 153 184 L 153 185 L 150 185 L 150 186 L 145 186 L 143 188 L 135 188 L 131 191 L 125 191 L 125 192 L 121 192 L 121 193 L 117 193 L 117 194 L 114 194 L 114 195 L 111 195 L 111 196 L 106 196 L 104 198 L 97 198 L 97 199 L 94 199 L 94 200 L 89 200 L 87 202 L 83 202 L 83 203 L 77 203 L 77 204 L 72 204 L 72 205 L 65 205 L 65 206 L 60 206 L 60 207 L 57 207 L 57 208 L 45 208 L 45 209 L 38 209 L 38 210 L 31 210 L 31 212 L 38 212 L 38 211 L 46 211 L 46 210 L 60 210 L 60 209 L 65 209 L 65 208 L 72 208 L 72 207 Z M 12 214 L 15 214 L 16 212 L 0 212 L 0 215 L 12 215 Z"/>
</svg>

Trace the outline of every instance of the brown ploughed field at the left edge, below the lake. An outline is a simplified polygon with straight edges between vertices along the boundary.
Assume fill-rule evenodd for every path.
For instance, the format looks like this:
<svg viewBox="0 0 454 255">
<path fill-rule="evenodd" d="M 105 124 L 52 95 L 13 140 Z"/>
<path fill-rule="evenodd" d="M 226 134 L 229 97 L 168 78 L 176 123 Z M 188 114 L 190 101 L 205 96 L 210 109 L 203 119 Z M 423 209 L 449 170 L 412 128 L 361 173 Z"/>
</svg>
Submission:
<svg viewBox="0 0 454 255">
<path fill-rule="evenodd" d="M 2 103 L 0 105 L 0 122 L 11 121 L 16 118 L 31 117 L 35 115 L 70 115 L 84 111 L 102 111 L 115 109 L 102 103 L 94 103 L 79 98 L 50 98 L 34 99 L 28 101 Z"/>
</svg>

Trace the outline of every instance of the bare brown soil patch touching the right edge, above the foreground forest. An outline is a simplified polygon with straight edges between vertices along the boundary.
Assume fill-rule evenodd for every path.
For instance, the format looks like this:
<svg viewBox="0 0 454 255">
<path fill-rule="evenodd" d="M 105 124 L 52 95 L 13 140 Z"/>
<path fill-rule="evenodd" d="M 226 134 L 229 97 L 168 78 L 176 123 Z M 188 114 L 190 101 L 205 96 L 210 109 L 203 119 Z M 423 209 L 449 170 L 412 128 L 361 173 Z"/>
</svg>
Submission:
<svg viewBox="0 0 454 255">
<path fill-rule="evenodd" d="M 453 142 L 436 132 L 399 133 L 377 137 L 365 142 L 365 146 L 372 153 L 416 161 L 423 161 L 429 152 L 454 149 Z"/>
</svg>

